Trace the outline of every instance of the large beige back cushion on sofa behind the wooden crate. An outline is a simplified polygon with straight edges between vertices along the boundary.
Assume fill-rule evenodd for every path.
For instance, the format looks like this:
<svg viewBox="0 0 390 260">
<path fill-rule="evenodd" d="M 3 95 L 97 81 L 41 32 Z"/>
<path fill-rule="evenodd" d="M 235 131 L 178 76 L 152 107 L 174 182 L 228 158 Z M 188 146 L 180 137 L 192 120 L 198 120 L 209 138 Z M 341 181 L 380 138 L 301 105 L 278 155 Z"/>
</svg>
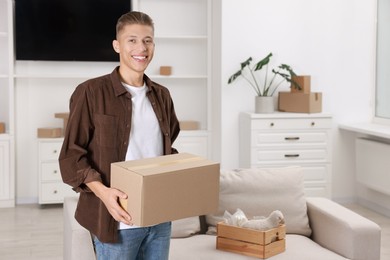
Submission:
<svg viewBox="0 0 390 260">
<path fill-rule="evenodd" d="M 225 210 L 241 209 L 248 218 L 268 216 L 280 210 L 289 234 L 310 236 L 303 170 L 298 166 L 221 170 L 219 209 L 207 215 L 207 224 L 215 227 L 223 221 Z"/>
</svg>

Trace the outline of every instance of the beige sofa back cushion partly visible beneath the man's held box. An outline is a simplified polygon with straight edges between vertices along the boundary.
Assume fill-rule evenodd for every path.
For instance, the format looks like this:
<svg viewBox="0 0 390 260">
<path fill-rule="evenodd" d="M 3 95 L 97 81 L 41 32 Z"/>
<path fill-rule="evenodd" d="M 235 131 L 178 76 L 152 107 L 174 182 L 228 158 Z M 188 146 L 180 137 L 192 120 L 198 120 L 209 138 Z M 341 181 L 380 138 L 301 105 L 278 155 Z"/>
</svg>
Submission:
<svg viewBox="0 0 390 260">
<path fill-rule="evenodd" d="M 172 238 L 189 237 L 200 232 L 199 217 L 190 217 L 172 221 Z"/>
</svg>

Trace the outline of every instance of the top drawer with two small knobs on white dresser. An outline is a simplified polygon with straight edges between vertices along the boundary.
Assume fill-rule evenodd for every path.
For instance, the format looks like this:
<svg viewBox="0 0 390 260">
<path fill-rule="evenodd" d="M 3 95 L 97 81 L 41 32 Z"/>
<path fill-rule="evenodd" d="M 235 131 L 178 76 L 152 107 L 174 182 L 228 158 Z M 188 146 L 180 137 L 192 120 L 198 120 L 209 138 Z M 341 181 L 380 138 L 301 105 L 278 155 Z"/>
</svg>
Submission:
<svg viewBox="0 0 390 260">
<path fill-rule="evenodd" d="M 278 129 L 329 129 L 332 127 L 330 118 L 271 118 L 256 119 L 252 121 L 252 129 L 278 130 Z"/>
</svg>

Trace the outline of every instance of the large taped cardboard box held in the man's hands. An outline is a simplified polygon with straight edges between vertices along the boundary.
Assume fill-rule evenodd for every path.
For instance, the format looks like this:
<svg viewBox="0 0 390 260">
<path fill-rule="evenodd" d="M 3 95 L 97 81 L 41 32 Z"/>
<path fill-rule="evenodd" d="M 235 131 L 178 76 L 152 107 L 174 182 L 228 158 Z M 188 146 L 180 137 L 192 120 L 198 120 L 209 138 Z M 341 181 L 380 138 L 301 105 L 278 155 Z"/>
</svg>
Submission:
<svg viewBox="0 0 390 260">
<path fill-rule="evenodd" d="M 111 164 L 111 187 L 137 226 L 214 213 L 219 202 L 219 163 L 179 153 Z"/>
</svg>

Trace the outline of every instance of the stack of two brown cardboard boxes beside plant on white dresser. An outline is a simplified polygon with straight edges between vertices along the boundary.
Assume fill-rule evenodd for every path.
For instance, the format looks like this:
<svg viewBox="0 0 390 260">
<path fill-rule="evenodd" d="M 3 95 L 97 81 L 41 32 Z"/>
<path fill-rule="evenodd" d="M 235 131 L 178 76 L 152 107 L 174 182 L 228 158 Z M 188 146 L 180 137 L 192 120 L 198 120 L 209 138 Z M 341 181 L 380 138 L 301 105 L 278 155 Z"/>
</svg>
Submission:
<svg viewBox="0 0 390 260">
<path fill-rule="evenodd" d="M 301 89 L 291 83 L 290 92 L 279 92 L 279 111 L 296 113 L 320 113 L 322 111 L 322 93 L 311 92 L 310 76 L 292 78 Z"/>
</svg>

